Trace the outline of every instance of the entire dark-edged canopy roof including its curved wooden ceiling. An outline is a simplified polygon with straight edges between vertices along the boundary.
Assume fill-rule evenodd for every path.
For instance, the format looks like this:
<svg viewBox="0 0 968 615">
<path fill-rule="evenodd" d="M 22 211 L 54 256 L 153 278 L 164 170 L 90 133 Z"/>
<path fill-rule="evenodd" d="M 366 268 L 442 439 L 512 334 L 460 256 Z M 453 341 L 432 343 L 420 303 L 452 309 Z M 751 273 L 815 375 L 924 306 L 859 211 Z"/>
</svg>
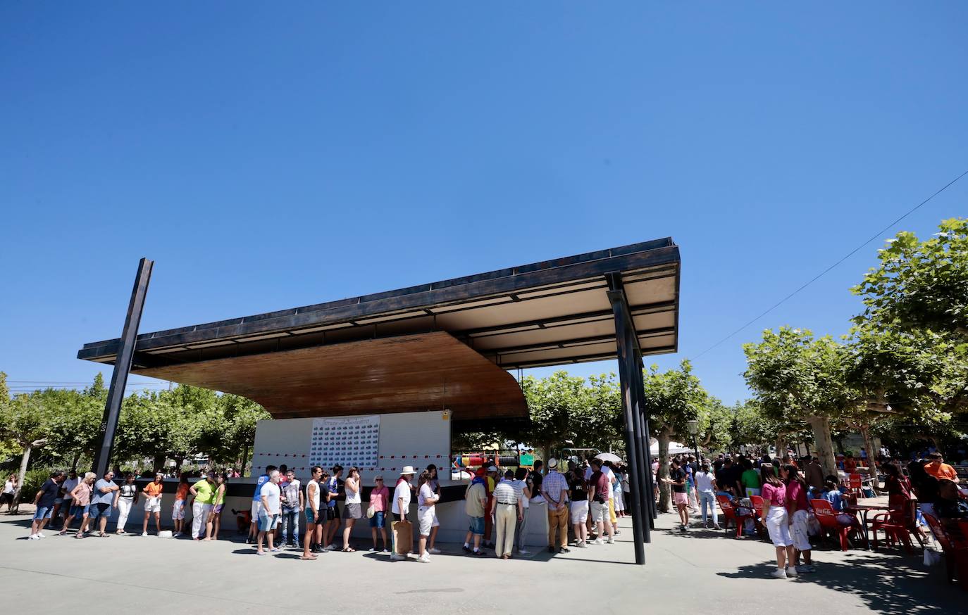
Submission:
<svg viewBox="0 0 968 615">
<path fill-rule="evenodd" d="M 507 369 L 616 356 L 608 278 L 642 354 L 675 352 L 671 238 L 137 337 L 132 371 L 244 395 L 277 418 L 450 408 L 527 416 Z M 78 359 L 113 363 L 119 340 Z"/>
</svg>

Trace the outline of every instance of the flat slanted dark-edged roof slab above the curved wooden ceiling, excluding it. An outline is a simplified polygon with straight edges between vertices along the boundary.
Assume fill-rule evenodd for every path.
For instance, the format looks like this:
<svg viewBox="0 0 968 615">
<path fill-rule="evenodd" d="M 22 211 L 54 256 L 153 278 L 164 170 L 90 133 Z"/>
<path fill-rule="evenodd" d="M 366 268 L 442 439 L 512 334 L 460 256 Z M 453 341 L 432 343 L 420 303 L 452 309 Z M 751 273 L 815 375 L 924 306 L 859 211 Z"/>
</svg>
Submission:
<svg viewBox="0 0 968 615">
<path fill-rule="evenodd" d="M 137 337 L 134 368 L 365 339 L 446 332 L 510 369 L 616 356 L 606 275 L 620 274 L 643 354 L 678 344 L 679 248 L 671 238 L 467 278 Z M 118 340 L 85 344 L 79 359 L 112 363 Z M 184 369 L 179 370 L 186 373 Z"/>
</svg>

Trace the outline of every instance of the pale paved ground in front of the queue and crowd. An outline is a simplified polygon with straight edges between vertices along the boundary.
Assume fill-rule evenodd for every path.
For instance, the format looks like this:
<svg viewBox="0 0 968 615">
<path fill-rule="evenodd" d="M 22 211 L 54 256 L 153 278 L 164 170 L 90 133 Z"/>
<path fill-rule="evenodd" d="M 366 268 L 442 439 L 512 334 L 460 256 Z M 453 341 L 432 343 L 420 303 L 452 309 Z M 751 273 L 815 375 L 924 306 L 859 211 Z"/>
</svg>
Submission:
<svg viewBox="0 0 968 615">
<path fill-rule="evenodd" d="M 945 582 L 943 566 L 924 568 L 920 551 L 824 546 L 814 550 L 816 574 L 779 580 L 768 577 L 770 544 L 711 530 L 680 535 L 670 531 L 674 522 L 672 514 L 659 516 L 646 567 L 633 563 L 627 520 L 618 543 L 573 548 L 551 561 L 546 552 L 507 562 L 473 559 L 444 544 L 450 554 L 424 565 L 365 552 L 326 553 L 315 562 L 292 551 L 257 557 L 232 541 L 27 541 L 25 515 L 0 515 L 0 588 L 4 612 L 69 612 L 107 600 L 113 606 L 101 612 L 264 615 L 279 612 L 283 596 L 288 610 L 318 613 L 968 612 L 968 593 Z"/>
</svg>

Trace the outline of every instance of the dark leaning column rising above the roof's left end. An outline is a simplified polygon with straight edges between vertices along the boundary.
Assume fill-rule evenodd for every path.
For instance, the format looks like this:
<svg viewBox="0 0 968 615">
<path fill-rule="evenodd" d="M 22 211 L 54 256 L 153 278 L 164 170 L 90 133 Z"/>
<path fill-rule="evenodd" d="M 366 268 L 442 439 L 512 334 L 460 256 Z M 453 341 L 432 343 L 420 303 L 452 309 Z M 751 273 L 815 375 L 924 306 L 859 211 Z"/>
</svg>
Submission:
<svg viewBox="0 0 968 615">
<path fill-rule="evenodd" d="M 121 416 L 121 402 L 124 400 L 125 387 L 128 385 L 128 372 L 131 371 L 131 362 L 135 357 L 137 327 L 141 322 L 144 297 L 148 294 L 148 281 L 151 279 L 151 268 L 154 264 L 155 261 L 147 258 L 142 258 L 137 264 L 135 287 L 131 291 L 131 301 L 128 303 L 128 313 L 124 319 L 118 354 L 114 360 L 114 371 L 111 373 L 111 385 L 107 390 L 105 416 L 101 420 L 101 444 L 94 455 L 94 472 L 98 478 L 105 475 L 110 464 L 114 432 L 117 430 L 118 418 Z"/>
</svg>

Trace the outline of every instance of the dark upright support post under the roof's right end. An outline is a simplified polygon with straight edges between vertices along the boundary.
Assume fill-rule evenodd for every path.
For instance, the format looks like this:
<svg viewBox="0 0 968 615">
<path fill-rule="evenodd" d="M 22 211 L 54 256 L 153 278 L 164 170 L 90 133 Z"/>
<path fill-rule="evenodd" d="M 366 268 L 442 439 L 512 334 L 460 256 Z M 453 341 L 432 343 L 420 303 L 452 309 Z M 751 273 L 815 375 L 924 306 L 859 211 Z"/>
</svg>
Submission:
<svg viewBox="0 0 968 615">
<path fill-rule="evenodd" d="M 609 275 L 609 286 L 615 288 L 620 284 L 618 274 Z M 647 484 L 643 480 L 642 464 L 639 459 L 638 444 L 636 442 L 636 431 L 638 422 L 635 420 L 634 406 L 635 393 L 633 390 L 634 374 L 631 373 L 632 364 L 635 357 L 635 350 L 629 343 L 629 327 L 631 318 L 628 315 L 628 306 L 625 303 L 625 293 L 621 290 L 609 290 L 609 300 L 615 313 L 615 333 L 618 342 L 619 354 L 619 382 L 621 392 L 621 408 L 625 423 L 625 453 L 628 455 L 629 464 L 629 485 L 632 491 L 640 493 L 646 488 Z M 632 332 L 634 334 L 634 332 Z M 640 498 L 632 498 L 632 538 L 635 548 L 635 563 L 645 565 L 646 551 L 644 542 L 646 512 L 640 504 Z"/>
</svg>

